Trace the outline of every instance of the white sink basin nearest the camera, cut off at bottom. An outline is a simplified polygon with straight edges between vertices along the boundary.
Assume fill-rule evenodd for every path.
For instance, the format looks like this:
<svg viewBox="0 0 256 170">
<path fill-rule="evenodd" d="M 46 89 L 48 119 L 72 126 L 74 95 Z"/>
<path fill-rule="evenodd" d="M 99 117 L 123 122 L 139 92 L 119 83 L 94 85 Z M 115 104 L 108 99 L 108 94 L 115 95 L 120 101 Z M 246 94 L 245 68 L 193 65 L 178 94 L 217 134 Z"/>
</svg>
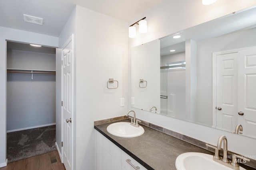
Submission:
<svg viewBox="0 0 256 170">
<path fill-rule="evenodd" d="M 199 152 L 186 152 L 176 158 L 175 166 L 177 170 L 232 170 L 215 162 L 210 154 Z M 240 170 L 246 170 L 240 166 Z"/>
</svg>

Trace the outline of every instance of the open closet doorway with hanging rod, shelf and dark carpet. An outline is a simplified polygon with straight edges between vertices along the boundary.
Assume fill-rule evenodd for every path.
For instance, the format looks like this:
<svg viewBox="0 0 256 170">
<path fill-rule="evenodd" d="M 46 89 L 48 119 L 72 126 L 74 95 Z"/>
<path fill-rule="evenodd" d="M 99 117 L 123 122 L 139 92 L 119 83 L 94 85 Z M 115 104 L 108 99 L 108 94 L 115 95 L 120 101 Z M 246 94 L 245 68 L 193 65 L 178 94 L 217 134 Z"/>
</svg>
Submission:
<svg viewBox="0 0 256 170">
<path fill-rule="evenodd" d="M 56 150 L 56 49 L 7 41 L 6 56 L 8 162 Z"/>
</svg>

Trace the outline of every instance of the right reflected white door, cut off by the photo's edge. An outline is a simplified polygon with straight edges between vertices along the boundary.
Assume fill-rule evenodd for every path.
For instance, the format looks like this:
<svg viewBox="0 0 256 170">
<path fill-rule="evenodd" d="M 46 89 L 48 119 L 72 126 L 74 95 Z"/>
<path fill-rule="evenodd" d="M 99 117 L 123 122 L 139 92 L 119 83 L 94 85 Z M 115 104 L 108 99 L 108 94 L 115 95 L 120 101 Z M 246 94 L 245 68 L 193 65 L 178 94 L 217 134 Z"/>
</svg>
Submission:
<svg viewBox="0 0 256 170">
<path fill-rule="evenodd" d="M 242 133 L 255 137 L 256 47 L 240 50 L 238 54 L 238 124 L 243 126 Z"/>
</svg>

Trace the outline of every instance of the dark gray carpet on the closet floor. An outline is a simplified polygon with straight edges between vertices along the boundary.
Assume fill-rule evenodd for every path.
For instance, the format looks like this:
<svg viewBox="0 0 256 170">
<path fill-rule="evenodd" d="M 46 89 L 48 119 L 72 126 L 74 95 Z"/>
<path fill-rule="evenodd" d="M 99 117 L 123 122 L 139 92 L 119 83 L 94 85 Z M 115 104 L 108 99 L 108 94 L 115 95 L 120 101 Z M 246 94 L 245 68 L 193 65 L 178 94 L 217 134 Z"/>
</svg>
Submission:
<svg viewBox="0 0 256 170">
<path fill-rule="evenodd" d="M 55 125 L 7 133 L 8 163 L 54 151 L 55 141 Z"/>
</svg>

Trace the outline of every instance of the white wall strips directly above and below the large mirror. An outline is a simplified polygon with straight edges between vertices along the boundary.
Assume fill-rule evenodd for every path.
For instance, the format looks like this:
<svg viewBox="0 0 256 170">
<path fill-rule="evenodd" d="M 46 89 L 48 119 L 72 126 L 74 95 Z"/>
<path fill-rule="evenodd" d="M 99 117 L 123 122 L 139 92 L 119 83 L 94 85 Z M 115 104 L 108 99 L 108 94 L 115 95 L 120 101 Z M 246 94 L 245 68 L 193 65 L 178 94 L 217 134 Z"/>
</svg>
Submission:
<svg viewBox="0 0 256 170">
<path fill-rule="evenodd" d="M 148 10 L 130 22 L 130 24 L 132 24 L 146 16 L 148 21 L 148 33 L 138 33 L 135 39 L 129 39 L 129 48 L 253 5 L 256 5 L 254 0 L 244 0 L 243 2 L 240 0 L 233 0 L 232 2 L 230 2 L 230 0 L 222 0 L 209 6 L 202 5 L 201 0 L 180 0 L 175 1 L 175 3 L 170 0 L 165 0 L 155 8 Z M 134 110 L 139 119 L 149 121 L 150 123 L 160 125 L 213 145 L 217 144 L 220 135 L 226 135 L 229 141 L 229 150 L 245 155 L 255 155 L 255 150 L 252 148 L 254 148 L 256 139 L 141 111 L 139 109 Z M 246 143 L 246 145 L 240 145 L 240 143 Z"/>
</svg>

